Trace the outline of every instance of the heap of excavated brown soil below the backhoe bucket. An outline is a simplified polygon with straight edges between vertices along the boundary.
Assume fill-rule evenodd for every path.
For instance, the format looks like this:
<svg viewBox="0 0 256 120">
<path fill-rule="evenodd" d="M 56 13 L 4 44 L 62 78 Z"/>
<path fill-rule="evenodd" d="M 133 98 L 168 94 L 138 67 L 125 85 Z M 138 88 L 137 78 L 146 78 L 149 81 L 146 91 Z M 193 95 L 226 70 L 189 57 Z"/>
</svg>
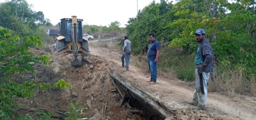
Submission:
<svg viewBox="0 0 256 120">
<path fill-rule="evenodd" d="M 51 57 L 49 67 L 44 67 L 42 63 L 34 65 L 35 72 L 27 72 L 27 75 L 15 74 L 12 80 L 34 81 L 39 83 L 58 82 L 64 79 L 72 85 L 72 89 L 60 89 L 52 87 L 51 90 L 37 89 L 32 98 L 19 98 L 18 105 L 22 108 L 18 111 L 22 114 L 30 113 L 38 109 L 48 111 L 64 111 L 70 105 L 68 103 L 78 103 L 83 106 L 84 116 L 89 115 L 92 119 L 146 119 L 130 112 L 120 112 L 128 110 L 127 107 L 119 107 L 121 96 L 111 83 L 109 75 L 109 65 L 111 62 L 99 57 L 86 57 L 93 64 L 82 61 L 82 66 L 72 67 L 69 61 L 71 54 L 55 55 L 51 52 L 30 49 L 34 55 L 48 55 Z M 131 110 L 131 109 L 129 109 Z M 104 112 L 102 112 L 104 111 Z M 56 113 L 55 113 L 56 114 Z"/>
</svg>

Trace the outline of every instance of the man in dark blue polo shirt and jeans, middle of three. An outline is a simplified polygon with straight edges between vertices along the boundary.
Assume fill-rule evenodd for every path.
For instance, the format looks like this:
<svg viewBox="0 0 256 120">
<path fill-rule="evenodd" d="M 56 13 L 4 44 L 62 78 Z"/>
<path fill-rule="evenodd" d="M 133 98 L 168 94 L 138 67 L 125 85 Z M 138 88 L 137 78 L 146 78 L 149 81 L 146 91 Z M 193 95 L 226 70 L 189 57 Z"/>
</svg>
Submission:
<svg viewBox="0 0 256 120">
<path fill-rule="evenodd" d="M 149 81 L 149 84 L 156 84 L 156 78 L 157 78 L 157 63 L 158 63 L 158 57 L 160 54 L 160 43 L 156 41 L 155 35 L 153 33 L 148 34 L 148 38 L 150 41 L 150 44 L 148 46 L 148 67 L 149 71 L 151 73 L 151 78 Z"/>
</svg>

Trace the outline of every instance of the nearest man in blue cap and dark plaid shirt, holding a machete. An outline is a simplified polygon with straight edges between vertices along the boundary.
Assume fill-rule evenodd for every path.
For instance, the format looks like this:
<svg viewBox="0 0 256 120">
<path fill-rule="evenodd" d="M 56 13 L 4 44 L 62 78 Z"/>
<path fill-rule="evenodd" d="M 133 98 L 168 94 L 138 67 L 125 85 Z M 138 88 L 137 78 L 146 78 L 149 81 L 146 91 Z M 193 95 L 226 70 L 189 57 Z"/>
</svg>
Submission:
<svg viewBox="0 0 256 120">
<path fill-rule="evenodd" d="M 213 49 L 211 44 L 206 40 L 203 29 L 197 29 L 193 35 L 196 35 L 196 41 L 199 43 L 195 58 L 196 90 L 192 102 L 188 102 L 188 104 L 196 106 L 192 108 L 193 110 L 206 110 L 207 82 L 213 64 Z"/>
</svg>

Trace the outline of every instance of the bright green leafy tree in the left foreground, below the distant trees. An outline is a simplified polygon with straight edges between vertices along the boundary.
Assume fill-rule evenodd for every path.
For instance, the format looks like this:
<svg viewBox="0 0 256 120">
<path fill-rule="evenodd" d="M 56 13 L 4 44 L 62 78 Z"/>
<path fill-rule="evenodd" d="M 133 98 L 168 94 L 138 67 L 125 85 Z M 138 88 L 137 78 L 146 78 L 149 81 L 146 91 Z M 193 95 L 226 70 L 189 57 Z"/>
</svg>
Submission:
<svg viewBox="0 0 256 120">
<path fill-rule="evenodd" d="M 30 36 L 20 39 L 19 36 L 12 34 L 12 30 L 0 26 L 0 119 L 11 119 L 11 115 L 14 114 L 15 97 L 32 97 L 35 88 L 51 89 L 50 84 L 38 84 L 37 81 L 16 83 L 9 80 L 9 76 L 15 72 L 34 71 L 29 62 L 42 61 L 44 65 L 48 65 L 50 61 L 49 56 L 33 56 L 28 50 L 29 47 L 43 46 L 41 37 Z"/>
</svg>

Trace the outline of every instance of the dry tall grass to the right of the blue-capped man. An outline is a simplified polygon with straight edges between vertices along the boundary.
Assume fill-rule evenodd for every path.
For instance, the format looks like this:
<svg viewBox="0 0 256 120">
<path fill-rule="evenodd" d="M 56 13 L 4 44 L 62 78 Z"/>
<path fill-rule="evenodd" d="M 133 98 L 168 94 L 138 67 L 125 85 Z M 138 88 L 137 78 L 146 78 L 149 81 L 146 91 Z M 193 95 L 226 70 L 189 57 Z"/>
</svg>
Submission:
<svg viewBox="0 0 256 120">
<path fill-rule="evenodd" d="M 217 71 L 217 78 L 209 81 L 210 92 L 224 92 L 231 96 L 256 95 L 256 81 L 253 73 L 251 76 L 244 76 L 244 69 L 231 62 L 228 65 L 219 63 Z"/>
</svg>

